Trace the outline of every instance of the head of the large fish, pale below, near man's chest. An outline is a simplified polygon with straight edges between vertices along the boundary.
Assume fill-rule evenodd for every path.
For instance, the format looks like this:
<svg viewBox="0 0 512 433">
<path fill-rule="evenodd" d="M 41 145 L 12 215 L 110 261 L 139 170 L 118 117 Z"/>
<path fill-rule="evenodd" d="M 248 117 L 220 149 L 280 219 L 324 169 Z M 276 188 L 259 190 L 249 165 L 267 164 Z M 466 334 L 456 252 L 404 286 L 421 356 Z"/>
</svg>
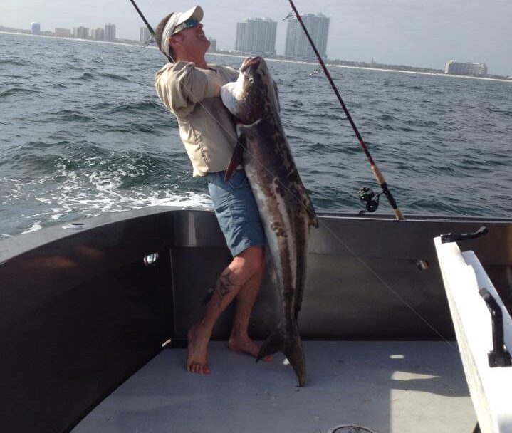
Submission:
<svg viewBox="0 0 512 433">
<path fill-rule="evenodd" d="M 278 109 L 276 88 L 266 61 L 248 57 L 241 64 L 239 78 L 221 89 L 224 105 L 242 123 L 251 124 Z"/>
</svg>

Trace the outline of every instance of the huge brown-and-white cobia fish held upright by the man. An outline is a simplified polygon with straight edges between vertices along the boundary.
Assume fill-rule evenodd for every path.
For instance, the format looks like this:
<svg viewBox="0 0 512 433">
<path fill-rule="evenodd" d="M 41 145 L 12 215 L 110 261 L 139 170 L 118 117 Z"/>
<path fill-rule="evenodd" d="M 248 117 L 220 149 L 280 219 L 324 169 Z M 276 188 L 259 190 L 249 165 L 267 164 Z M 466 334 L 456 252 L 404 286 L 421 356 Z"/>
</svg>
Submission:
<svg viewBox="0 0 512 433">
<path fill-rule="evenodd" d="M 243 164 L 258 204 L 268 249 L 276 268 L 283 318 L 256 360 L 281 351 L 305 383 L 305 358 L 297 326 L 305 283 L 310 226 L 318 219 L 293 162 L 279 118 L 279 101 L 266 62 L 246 58 L 239 78 L 221 89 L 224 105 L 241 122 L 239 144 L 226 170 L 229 179 Z"/>
</svg>

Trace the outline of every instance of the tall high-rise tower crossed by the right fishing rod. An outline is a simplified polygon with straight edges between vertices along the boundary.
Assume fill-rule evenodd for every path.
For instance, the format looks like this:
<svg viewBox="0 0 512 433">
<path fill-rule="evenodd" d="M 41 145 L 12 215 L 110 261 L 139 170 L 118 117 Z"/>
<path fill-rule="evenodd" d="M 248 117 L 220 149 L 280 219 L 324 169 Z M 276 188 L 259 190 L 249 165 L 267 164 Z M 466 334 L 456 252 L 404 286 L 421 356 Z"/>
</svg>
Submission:
<svg viewBox="0 0 512 433">
<path fill-rule="evenodd" d="M 308 29 L 313 42 L 322 58 L 327 57 L 327 38 L 329 35 L 330 19 L 323 14 L 305 14 L 301 19 Z M 288 29 L 286 31 L 286 46 L 284 49 L 286 58 L 301 61 L 315 61 L 316 55 L 313 48 L 305 36 L 301 23 L 296 16 L 288 19 Z"/>
</svg>

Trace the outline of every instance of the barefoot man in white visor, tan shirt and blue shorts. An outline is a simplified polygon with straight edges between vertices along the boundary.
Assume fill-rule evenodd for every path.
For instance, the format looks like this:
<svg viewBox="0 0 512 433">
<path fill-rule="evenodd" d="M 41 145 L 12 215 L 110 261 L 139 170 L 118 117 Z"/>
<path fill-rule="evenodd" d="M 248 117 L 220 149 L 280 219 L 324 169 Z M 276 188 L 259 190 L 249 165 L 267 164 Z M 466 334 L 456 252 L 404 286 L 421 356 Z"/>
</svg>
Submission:
<svg viewBox="0 0 512 433">
<path fill-rule="evenodd" d="M 245 172 L 239 169 L 229 182 L 224 171 L 236 145 L 231 115 L 222 104 L 221 86 L 235 81 L 238 71 L 209 65 L 205 53 L 203 11 L 195 6 L 166 16 L 155 31 L 160 51 L 172 58 L 156 75 L 155 87 L 162 102 L 176 116 L 179 135 L 192 162 L 194 176 L 206 176 L 215 214 L 234 259 L 216 282 L 207 311 L 188 332 L 186 367 L 209 374 L 207 348 L 221 313 L 236 298 L 236 313 L 229 348 L 258 354 L 258 345 L 247 333 L 249 317 L 263 276 L 265 236 Z M 271 357 L 264 358 L 267 362 Z"/>
</svg>

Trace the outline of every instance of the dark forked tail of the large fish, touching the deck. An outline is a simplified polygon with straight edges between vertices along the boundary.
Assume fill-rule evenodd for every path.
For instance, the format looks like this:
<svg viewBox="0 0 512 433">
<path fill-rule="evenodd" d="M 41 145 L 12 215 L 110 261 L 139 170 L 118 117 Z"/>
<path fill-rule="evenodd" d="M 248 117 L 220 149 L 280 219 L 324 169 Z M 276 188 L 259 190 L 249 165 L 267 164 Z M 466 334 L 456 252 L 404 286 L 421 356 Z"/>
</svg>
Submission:
<svg viewBox="0 0 512 433">
<path fill-rule="evenodd" d="M 298 379 L 298 386 L 302 387 L 305 384 L 305 358 L 304 351 L 301 343 L 301 335 L 298 331 L 296 322 L 291 326 L 286 326 L 286 323 L 281 321 L 279 326 L 271 333 L 266 339 L 265 343 L 261 346 L 256 362 L 267 355 L 273 355 L 276 352 L 282 352 Z"/>
</svg>

